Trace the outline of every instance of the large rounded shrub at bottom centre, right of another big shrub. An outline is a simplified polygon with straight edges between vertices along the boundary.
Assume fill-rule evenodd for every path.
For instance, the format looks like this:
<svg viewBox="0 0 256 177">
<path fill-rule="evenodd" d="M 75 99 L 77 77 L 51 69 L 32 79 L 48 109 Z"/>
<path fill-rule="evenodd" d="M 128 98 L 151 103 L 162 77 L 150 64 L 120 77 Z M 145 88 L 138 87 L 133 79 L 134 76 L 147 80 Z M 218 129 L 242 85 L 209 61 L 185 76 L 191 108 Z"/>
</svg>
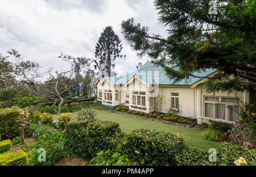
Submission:
<svg viewBox="0 0 256 177">
<path fill-rule="evenodd" d="M 175 165 L 175 156 L 185 147 L 180 136 L 142 128 L 125 134 L 121 144 L 122 154 L 134 165 Z"/>
</svg>

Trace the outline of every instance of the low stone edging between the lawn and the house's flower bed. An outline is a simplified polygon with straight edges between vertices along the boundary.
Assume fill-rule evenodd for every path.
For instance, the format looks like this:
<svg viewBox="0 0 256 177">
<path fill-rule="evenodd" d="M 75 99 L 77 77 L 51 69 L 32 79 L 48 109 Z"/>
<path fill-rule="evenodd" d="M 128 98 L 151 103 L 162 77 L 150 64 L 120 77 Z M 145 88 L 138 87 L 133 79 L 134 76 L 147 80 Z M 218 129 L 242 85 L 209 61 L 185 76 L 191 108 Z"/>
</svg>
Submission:
<svg viewBox="0 0 256 177">
<path fill-rule="evenodd" d="M 180 127 L 187 127 L 187 128 L 199 129 L 199 130 L 206 130 L 203 127 L 191 127 L 191 125 L 186 125 L 186 124 L 181 124 L 181 123 L 174 123 L 174 122 L 167 121 L 167 120 L 159 120 L 159 119 L 155 119 L 155 118 L 152 118 L 152 117 L 151 118 L 149 118 L 149 117 L 146 118 L 146 117 L 143 117 L 143 116 L 133 115 L 133 114 L 130 114 L 130 113 L 125 113 L 125 112 L 121 112 L 121 111 L 115 111 L 114 109 L 113 110 L 109 110 L 109 109 L 101 109 L 101 108 L 97 108 L 97 107 L 94 107 L 94 109 L 98 109 L 98 110 L 101 110 L 101 111 L 112 112 L 112 113 L 119 113 L 121 115 L 128 115 L 128 116 L 131 116 L 131 117 L 137 117 L 139 119 L 144 119 L 144 120 L 157 121 L 159 123 L 165 123 L 165 124 L 170 124 L 170 125 L 177 125 L 177 126 L 180 126 Z"/>
</svg>

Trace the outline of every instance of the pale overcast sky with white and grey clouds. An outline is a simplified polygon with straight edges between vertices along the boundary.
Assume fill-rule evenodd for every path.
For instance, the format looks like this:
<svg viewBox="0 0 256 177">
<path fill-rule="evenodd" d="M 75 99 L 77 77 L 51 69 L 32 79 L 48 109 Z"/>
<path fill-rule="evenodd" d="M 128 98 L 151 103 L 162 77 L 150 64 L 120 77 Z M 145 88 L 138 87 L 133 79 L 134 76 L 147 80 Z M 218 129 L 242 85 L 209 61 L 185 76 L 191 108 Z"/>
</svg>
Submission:
<svg viewBox="0 0 256 177">
<path fill-rule="evenodd" d="M 94 58 L 95 45 L 106 26 L 120 37 L 126 59 L 117 58 L 115 71 L 135 70 L 139 60 L 121 33 L 122 20 L 134 17 L 151 33 L 166 37 L 150 0 L 0 0 L 0 53 L 18 50 L 44 69 L 64 71 L 60 52 Z"/>
</svg>

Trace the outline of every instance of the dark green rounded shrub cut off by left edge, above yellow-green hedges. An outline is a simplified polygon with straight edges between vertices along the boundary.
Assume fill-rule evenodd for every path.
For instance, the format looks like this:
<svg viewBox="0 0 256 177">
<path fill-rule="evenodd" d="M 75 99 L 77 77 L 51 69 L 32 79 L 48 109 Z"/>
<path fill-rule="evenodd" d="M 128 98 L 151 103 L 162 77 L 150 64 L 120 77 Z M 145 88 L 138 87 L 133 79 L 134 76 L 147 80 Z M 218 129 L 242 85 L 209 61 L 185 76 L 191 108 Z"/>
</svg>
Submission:
<svg viewBox="0 0 256 177">
<path fill-rule="evenodd" d="M 0 109 L 0 133 L 1 140 L 12 139 L 19 136 L 19 128 L 16 121 L 18 120 L 18 108 Z"/>
</svg>

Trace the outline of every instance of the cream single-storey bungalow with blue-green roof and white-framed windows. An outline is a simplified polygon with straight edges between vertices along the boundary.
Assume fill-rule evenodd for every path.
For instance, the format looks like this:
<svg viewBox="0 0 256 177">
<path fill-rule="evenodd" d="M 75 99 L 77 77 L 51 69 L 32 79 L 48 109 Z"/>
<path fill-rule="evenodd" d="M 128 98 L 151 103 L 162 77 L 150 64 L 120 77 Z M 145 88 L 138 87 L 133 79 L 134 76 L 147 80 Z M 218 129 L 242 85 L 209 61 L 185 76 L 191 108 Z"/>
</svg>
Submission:
<svg viewBox="0 0 256 177">
<path fill-rule="evenodd" d="M 167 65 L 175 67 L 170 63 Z M 218 72 L 207 69 L 204 73 L 193 74 L 213 77 Z M 102 102 L 105 107 L 115 108 L 123 104 L 134 111 L 147 113 L 167 113 L 170 109 L 175 109 L 179 110 L 180 116 L 197 119 L 198 124 L 209 120 L 234 123 L 238 117 L 236 98 L 249 102 L 249 92 L 208 94 L 202 86 L 204 82 L 205 78 L 194 77 L 189 81 L 174 83 L 162 67 L 154 66 L 148 61 L 144 65 L 139 63 L 138 69 L 133 73 L 121 77 L 102 77 L 97 79 L 95 85 L 97 102 Z M 156 105 L 158 98 L 162 98 L 162 102 Z"/>
</svg>

